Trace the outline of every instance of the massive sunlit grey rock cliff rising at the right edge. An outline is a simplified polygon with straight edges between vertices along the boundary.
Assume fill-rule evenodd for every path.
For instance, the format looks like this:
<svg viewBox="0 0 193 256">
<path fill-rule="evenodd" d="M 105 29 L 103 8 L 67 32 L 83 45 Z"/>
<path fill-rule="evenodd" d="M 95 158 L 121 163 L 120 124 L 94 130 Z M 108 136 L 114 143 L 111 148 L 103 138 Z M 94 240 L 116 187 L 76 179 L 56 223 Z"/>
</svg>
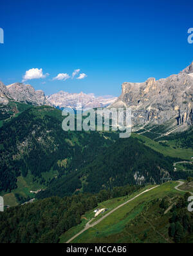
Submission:
<svg viewBox="0 0 193 256">
<path fill-rule="evenodd" d="M 145 83 L 123 83 L 122 95 L 111 107 L 131 107 L 133 125 L 193 124 L 193 63 L 178 75 Z"/>
</svg>

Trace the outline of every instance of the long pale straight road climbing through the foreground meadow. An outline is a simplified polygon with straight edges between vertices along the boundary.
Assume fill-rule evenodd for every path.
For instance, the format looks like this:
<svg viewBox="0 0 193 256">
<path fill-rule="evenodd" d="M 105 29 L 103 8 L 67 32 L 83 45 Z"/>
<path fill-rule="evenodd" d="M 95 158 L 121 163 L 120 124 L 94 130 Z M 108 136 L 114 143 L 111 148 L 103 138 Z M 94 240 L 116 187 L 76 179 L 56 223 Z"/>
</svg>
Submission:
<svg viewBox="0 0 193 256">
<path fill-rule="evenodd" d="M 133 201 L 134 199 L 136 199 L 137 197 L 140 197 L 141 195 L 151 191 L 152 189 L 155 189 L 156 187 L 159 187 L 160 185 L 158 186 L 155 186 L 155 187 L 152 187 L 151 189 L 147 189 L 145 191 L 143 191 L 142 193 L 140 193 L 139 195 L 136 195 L 136 197 L 133 197 L 131 198 L 130 200 L 128 200 L 127 202 L 124 202 L 123 204 L 120 204 L 120 206 L 117 206 L 115 209 L 113 209 L 112 211 L 109 211 L 109 213 L 107 213 L 104 217 L 100 218 L 99 220 L 97 220 L 96 222 L 94 222 L 93 224 L 90 224 L 95 218 L 89 220 L 89 222 L 87 222 L 86 226 L 84 229 L 82 229 L 82 231 L 80 231 L 79 233 L 77 233 L 77 235 L 74 235 L 71 239 L 69 239 L 66 244 L 69 244 L 72 240 L 74 240 L 75 238 L 77 238 L 79 235 L 81 235 L 82 233 L 84 233 L 84 231 L 86 231 L 87 229 L 89 228 L 93 228 L 94 226 L 96 226 L 98 223 L 100 223 L 102 220 L 106 219 L 109 215 L 111 215 L 112 213 L 114 213 L 114 211 L 116 211 L 117 209 L 121 208 L 122 206 L 125 206 L 125 204 L 128 204 L 129 202 Z"/>
</svg>

